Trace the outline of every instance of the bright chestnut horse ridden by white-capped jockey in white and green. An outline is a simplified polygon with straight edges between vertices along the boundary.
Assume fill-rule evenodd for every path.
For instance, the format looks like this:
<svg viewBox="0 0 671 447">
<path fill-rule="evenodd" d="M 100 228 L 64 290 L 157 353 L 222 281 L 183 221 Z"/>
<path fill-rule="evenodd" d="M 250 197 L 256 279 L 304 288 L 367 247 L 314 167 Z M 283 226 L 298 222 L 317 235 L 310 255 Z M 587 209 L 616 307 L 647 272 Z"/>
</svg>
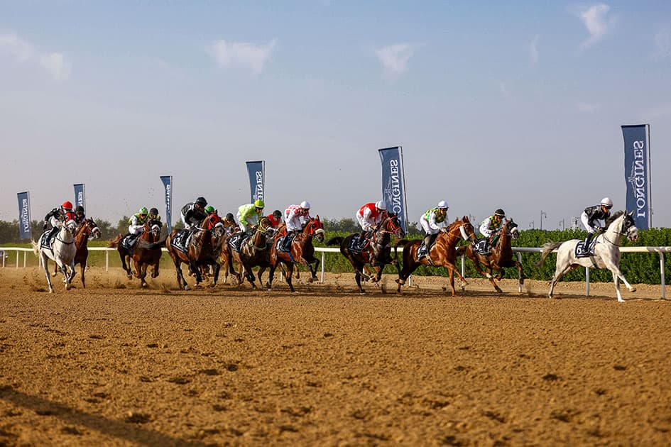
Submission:
<svg viewBox="0 0 671 447">
<path fill-rule="evenodd" d="M 398 245 L 403 245 L 403 269 L 398 274 L 398 288 L 396 293 L 400 294 L 400 286 L 405 284 L 410 274 L 415 271 L 420 265 L 433 265 L 435 267 L 445 267 L 449 273 L 449 287 L 452 288 L 452 297 L 457 292 L 454 290 L 454 273 L 457 273 L 462 284 L 467 284 L 466 280 L 457 270 L 454 261 L 457 260 L 457 243 L 462 238 L 464 241 L 475 241 L 475 233 L 473 225 L 469 221 L 468 216 L 462 217 L 450 223 L 447 228 L 442 228 L 438 233 L 435 244 L 429 250 L 429 253 L 423 258 L 418 259 L 417 250 L 422 245 L 422 240 L 408 241 L 401 239 L 396 241 L 394 245 L 394 258 L 396 258 Z"/>
</svg>

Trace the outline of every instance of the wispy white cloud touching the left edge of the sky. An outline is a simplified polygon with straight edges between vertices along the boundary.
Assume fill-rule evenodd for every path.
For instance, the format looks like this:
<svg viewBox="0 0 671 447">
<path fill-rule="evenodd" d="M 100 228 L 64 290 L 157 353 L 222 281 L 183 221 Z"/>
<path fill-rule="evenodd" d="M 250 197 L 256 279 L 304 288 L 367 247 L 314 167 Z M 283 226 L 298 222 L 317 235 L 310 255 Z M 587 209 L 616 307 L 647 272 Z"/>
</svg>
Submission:
<svg viewBox="0 0 671 447">
<path fill-rule="evenodd" d="M 70 77 L 70 62 L 62 53 L 41 53 L 31 43 L 14 33 L 0 34 L 0 54 L 9 55 L 19 62 L 33 63 L 49 73 L 53 79 L 64 81 Z"/>
</svg>

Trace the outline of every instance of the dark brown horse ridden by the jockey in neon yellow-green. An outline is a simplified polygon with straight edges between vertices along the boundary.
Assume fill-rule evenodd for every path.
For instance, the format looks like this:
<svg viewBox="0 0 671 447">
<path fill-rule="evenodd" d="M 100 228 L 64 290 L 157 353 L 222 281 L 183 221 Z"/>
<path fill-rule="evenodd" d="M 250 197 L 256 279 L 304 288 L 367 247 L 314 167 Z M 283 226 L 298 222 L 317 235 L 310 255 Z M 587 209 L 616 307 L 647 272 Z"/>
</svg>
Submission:
<svg viewBox="0 0 671 447">
<path fill-rule="evenodd" d="M 224 248 L 222 249 L 222 262 L 224 263 L 224 269 L 226 269 L 225 277 L 228 277 L 228 273 L 235 275 L 237 278 L 238 285 L 242 285 L 244 282 L 244 277 L 247 278 L 251 287 L 253 289 L 258 289 L 256 287 L 256 278 L 254 277 L 253 267 L 259 267 L 256 277 L 258 277 L 259 284 L 261 282 L 261 275 L 266 271 L 266 268 L 270 267 L 270 247 L 268 243 L 273 241 L 273 236 L 275 236 L 276 228 L 273 228 L 271 219 L 267 217 L 261 218 L 261 221 L 258 222 L 256 230 L 252 233 L 251 236 L 248 236 L 242 241 L 240 250 L 236 251 L 231 248 L 231 245 L 227 243 L 229 239 L 233 237 L 244 237 L 242 233 L 233 233 L 227 236 L 226 242 L 224 243 Z M 233 263 L 238 263 L 239 271 L 236 272 L 233 268 Z M 244 277 L 243 277 L 244 275 Z"/>
</svg>

